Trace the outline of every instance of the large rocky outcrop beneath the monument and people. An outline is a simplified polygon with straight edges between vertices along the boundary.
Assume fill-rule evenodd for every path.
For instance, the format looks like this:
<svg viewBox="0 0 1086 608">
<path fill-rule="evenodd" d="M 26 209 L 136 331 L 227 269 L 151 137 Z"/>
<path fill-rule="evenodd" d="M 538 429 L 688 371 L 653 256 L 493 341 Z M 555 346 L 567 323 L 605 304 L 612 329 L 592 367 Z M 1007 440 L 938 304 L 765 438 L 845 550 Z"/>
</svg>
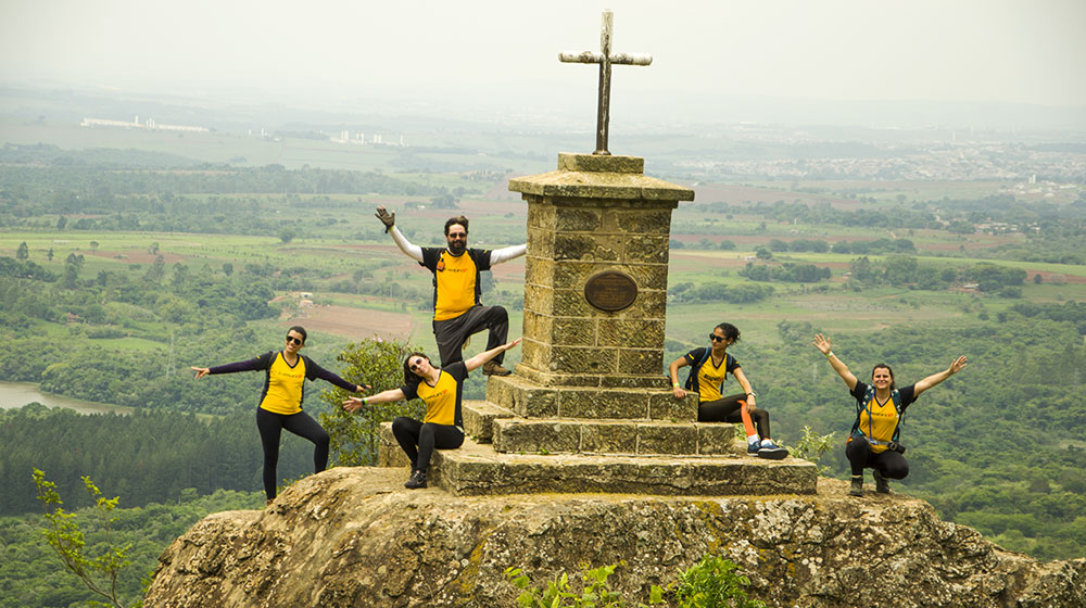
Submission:
<svg viewBox="0 0 1086 608">
<path fill-rule="evenodd" d="M 338 468 L 263 511 L 209 516 L 163 553 L 147 607 L 515 606 L 535 581 L 624 561 L 616 587 L 667 585 L 707 553 L 770 606 L 1086 606 L 1086 559 L 1038 562 L 940 521 L 904 495 L 807 496 L 406 491 L 401 470 Z"/>
</svg>

